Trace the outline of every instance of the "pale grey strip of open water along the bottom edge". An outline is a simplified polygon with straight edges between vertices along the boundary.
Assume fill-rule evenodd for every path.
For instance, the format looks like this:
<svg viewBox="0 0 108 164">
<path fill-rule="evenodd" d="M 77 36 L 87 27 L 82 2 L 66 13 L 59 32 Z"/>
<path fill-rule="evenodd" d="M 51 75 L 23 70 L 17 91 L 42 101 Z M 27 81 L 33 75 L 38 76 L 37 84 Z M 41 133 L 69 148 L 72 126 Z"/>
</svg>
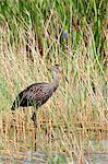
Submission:
<svg viewBox="0 0 108 164">
<path fill-rule="evenodd" d="M 67 159 L 63 154 L 53 154 L 50 159 L 47 159 L 45 152 L 35 152 L 33 157 L 12 157 L 9 155 L 0 156 L 0 164 L 77 164 L 75 157 Z M 69 162 L 70 161 L 70 162 Z M 88 156 L 84 156 L 84 164 L 108 164 L 108 153 L 92 153 Z"/>
</svg>

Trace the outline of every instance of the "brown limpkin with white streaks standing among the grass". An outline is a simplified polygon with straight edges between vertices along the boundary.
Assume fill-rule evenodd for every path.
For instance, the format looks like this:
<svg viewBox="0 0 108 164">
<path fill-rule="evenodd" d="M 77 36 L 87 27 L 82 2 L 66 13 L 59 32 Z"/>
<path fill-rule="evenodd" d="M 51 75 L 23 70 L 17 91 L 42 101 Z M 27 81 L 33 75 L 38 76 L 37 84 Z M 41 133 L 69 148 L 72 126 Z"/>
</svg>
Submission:
<svg viewBox="0 0 108 164">
<path fill-rule="evenodd" d="M 52 82 L 34 83 L 29 85 L 16 96 L 11 109 L 15 110 L 15 108 L 17 107 L 34 106 L 35 109 L 37 110 L 38 107 L 45 104 L 52 96 L 53 92 L 58 89 L 59 86 L 58 75 L 60 71 L 61 67 L 59 65 L 55 65 L 52 67 Z M 32 116 L 35 126 L 37 126 L 36 110 Z"/>
</svg>

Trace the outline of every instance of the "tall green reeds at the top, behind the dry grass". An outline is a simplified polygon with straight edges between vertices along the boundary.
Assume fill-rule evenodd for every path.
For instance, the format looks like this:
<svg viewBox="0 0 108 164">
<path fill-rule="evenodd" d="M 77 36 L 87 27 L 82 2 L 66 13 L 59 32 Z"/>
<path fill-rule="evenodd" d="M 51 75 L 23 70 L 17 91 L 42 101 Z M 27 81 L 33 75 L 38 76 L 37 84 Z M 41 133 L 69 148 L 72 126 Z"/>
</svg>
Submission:
<svg viewBox="0 0 108 164">
<path fill-rule="evenodd" d="M 56 14 L 53 16 L 58 17 L 59 25 L 62 28 L 67 28 L 70 33 L 72 27 L 72 17 L 74 17 L 75 26 L 77 26 L 77 21 L 83 23 L 83 17 L 85 17 L 86 23 L 91 24 L 93 28 L 94 39 L 96 44 L 96 51 L 100 49 L 101 35 L 104 21 L 106 19 L 106 7 L 107 0 L 2 0 L 0 3 L 0 22 L 1 24 L 8 22 L 9 27 L 13 34 L 17 37 L 17 28 L 20 26 L 32 27 L 35 30 L 36 34 L 43 35 L 43 24 L 48 20 L 51 9 L 55 9 Z M 55 19 L 51 19 L 53 24 Z M 83 31 L 84 26 L 80 26 Z M 56 26 L 52 27 L 53 31 Z M 16 32 L 15 32 L 16 31 Z M 76 31 L 76 44 L 80 40 L 80 32 Z"/>
</svg>

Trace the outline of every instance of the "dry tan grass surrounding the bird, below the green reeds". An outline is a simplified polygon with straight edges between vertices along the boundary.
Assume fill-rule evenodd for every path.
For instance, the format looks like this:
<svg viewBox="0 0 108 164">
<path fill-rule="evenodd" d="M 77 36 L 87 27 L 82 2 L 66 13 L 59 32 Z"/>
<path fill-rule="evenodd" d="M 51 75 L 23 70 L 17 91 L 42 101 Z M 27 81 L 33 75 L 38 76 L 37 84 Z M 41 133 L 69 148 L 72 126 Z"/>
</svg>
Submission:
<svg viewBox="0 0 108 164">
<path fill-rule="evenodd" d="M 106 72 L 99 59 L 94 57 L 91 28 L 87 31 L 87 47 L 82 38 L 80 46 L 73 50 L 69 39 L 63 51 L 55 37 L 50 36 L 52 49 L 46 49 L 52 50 L 49 59 L 46 56 L 41 58 L 39 50 L 35 50 L 32 45 L 31 54 L 34 60 L 28 58 L 25 50 L 24 30 L 20 30 L 19 45 L 10 43 L 10 33 L 8 26 L 5 31 L 0 28 L 0 151 L 9 154 L 15 151 L 20 154 L 29 149 L 34 150 L 35 142 L 37 150 L 65 152 L 70 156 L 73 152 L 77 159 L 82 159 L 87 151 L 94 151 L 91 140 L 108 138 L 108 109 L 103 95 L 103 87 L 106 87 L 107 82 Z M 34 40 L 32 31 L 28 33 Z M 59 52 L 55 52 L 55 45 Z M 52 54 L 56 54 L 56 57 L 52 57 Z M 51 68 L 55 61 L 63 67 L 70 83 L 67 84 L 61 78 L 56 94 L 38 109 L 36 130 L 31 120 L 32 109 L 17 109 L 12 115 L 10 108 L 17 93 L 27 85 L 51 80 L 48 68 Z M 104 148 L 98 145 L 96 149 L 104 151 Z"/>
</svg>

